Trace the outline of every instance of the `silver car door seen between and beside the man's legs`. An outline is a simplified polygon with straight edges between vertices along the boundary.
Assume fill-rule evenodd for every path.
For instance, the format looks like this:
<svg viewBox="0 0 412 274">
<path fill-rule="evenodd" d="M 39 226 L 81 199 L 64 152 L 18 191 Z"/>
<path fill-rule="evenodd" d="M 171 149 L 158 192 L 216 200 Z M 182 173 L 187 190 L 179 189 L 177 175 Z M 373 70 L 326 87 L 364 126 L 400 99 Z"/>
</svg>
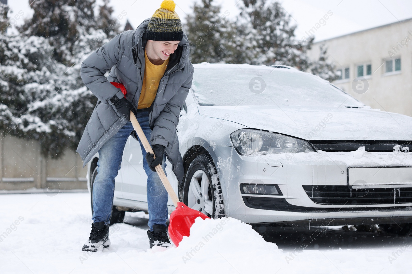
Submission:
<svg viewBox="0 0 412 274">
<path fill-rule="evenodd" d="M 122 193 L 124 199 L 136 200 L 147 203 L 147 175 L 143 169 L 142 150 L 138 140 L 129 136 L 124 147 L 121 166 Z M 166 175 L 174 191 L 177 193 L 177 179 L 171 169 L 171 163 L 166 159 Z M 169 205 L 173 205 L 169 197 Z"/>
</svg>

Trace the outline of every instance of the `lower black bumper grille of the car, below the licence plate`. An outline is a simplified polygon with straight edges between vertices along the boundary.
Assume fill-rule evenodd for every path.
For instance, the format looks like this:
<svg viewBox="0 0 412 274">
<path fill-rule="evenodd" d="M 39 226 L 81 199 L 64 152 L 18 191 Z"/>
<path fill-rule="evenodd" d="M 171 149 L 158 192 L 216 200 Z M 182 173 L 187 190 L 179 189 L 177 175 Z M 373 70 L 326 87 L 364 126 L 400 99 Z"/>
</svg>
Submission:
<svg viewBox="0 0 412 274">
<path fill-rule="evenodd" d="M 322 205 L 383 205 L 412 203 L 412 188 L 351 189 L 348 186 L 304 185 L 309 198 Z"/>
</svg>

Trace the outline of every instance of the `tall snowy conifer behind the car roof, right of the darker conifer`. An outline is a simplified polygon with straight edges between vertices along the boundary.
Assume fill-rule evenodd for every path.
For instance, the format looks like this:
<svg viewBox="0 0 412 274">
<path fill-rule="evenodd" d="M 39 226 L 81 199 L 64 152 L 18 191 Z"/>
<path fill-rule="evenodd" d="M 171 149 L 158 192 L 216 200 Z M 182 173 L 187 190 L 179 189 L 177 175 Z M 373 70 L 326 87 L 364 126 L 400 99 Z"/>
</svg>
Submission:
<svg viewBox="0 0 412 274">
<path fill-rule="evenodd" d="M 242 2 L 241 2 L 242 3 Z M 310 61 L 306 51 L 313 38 L 301 42 L 295 38 L 296 25 L 276 1 L 243 0 L 241 18 L 245 33 L 253 35 L 256 58 L 253 64 L 285 64 L 305 71 Z"/>
</svg>

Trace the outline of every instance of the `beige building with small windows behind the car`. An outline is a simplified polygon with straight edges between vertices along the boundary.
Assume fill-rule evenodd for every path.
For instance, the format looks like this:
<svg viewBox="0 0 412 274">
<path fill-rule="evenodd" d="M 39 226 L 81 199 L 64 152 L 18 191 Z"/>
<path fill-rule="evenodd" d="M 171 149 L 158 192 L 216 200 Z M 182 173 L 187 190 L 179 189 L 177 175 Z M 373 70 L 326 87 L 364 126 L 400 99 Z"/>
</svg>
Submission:
<svg viewBox="0 0 412 274">
<path fill-rule="evenodd" d="M 412 116 L 412 18 L 316 42 L 312 60 L 320 46 L 341 72 L 337 87 L 372 108 Z"/>
</svg>

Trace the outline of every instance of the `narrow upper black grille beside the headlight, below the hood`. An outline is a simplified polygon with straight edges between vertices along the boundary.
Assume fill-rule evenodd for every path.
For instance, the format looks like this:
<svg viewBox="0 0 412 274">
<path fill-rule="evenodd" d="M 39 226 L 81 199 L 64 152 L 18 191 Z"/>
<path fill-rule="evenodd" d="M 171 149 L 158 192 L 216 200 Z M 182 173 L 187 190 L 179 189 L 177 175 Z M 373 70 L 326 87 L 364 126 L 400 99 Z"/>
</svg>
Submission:
<svg viewBox="0 0 412 274">
<path fill-rule="evenodd" d="M 407 152 L 412 141 L 352 141 L 352 140 L 309 140 L 316 150 L 323 151 L 354 151 L 365 147 L 368 152 L 392 152 L 395 145 L 400 145 L 400 151 Z M 402 149 L 404 148 L 404 149 Z M 411 148 L 412 151 L 412 148 Z"/>
</svg>

